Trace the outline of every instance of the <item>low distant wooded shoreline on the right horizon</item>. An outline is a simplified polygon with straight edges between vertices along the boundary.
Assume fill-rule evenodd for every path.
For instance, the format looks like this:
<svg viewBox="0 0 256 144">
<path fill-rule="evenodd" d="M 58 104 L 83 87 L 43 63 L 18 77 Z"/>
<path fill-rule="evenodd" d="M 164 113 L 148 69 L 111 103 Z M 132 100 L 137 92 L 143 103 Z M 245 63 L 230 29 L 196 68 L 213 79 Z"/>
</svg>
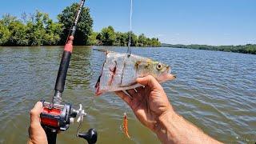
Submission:
<svg viewBox="0 0 256 144">
<path fill-rule="evenodd" d="M 162 43 L 163 47 L 175 47 L 197 50 L 215 50 L 215 51 L 227 51 L 243 54 L 256 54 L 256 44 L 238 45 L 238 46 L 208 46 L 208 45 L 172 45 Z"/>
</svg>

